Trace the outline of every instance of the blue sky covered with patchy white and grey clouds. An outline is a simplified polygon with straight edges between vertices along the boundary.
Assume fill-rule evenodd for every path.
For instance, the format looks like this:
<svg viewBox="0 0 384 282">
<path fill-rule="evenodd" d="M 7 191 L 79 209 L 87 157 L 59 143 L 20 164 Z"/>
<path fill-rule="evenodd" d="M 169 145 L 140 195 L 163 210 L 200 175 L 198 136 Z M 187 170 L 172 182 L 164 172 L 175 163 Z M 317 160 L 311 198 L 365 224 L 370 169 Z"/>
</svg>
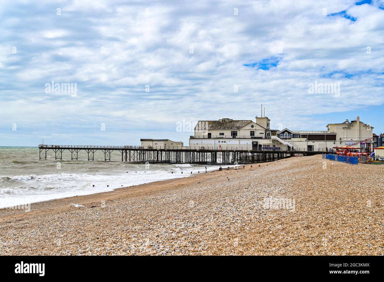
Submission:
<svg viewBox="0 0 384 282">
<path fill-rule="evenodd" d="M 187 145 L 261 104 L 272 129 L 384 133 L 382 0 L 13 0 L 0 18 L 0 146 Z"/>
</svg>

